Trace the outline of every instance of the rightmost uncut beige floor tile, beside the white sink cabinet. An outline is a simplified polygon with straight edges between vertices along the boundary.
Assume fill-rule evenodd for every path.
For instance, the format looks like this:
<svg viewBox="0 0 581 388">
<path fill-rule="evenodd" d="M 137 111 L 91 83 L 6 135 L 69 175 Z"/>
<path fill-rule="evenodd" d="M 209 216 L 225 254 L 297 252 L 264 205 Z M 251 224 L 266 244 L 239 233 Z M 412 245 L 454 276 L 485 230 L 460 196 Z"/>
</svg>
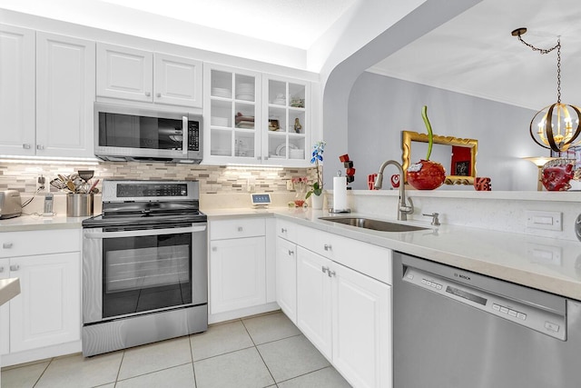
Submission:
<svg viewBox="0 0 581 388">
<path fill-rule="evenodd" d="M 263 343 L 257 348 L 277 383 L 330 365 L 304 335 Z"/>
</svg>

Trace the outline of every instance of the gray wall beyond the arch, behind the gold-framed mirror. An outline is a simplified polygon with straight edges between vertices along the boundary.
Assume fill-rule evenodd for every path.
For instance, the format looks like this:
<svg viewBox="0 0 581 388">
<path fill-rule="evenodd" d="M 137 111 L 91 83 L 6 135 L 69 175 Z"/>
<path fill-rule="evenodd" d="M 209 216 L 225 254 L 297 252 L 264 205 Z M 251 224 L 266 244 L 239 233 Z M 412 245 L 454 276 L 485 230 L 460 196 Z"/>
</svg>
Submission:
<svg viewBox="0 0 581 388">
<path fill-rule="evenodd" d="M 367 189 L 367 175 L 377 173 L 382 162 L 401 161 L 401 131 L 427 133 L 423 105 L 428 105 L 434 134 L 478 139 L 478 176 L 490 177 L 493 190 L 537 190 L 537 166 L 521 159 L 548 156 L 528 134 L 534 111 L 368 72 L 350 93 L 348 149 L 357 169 L 351 187 Z M 386 179 L 396 173 L 388 169 Z M 384 188 L 389 187 L 388 181 Z M 442 189 L 474 190 L 460 185 Z"/>
</svg>

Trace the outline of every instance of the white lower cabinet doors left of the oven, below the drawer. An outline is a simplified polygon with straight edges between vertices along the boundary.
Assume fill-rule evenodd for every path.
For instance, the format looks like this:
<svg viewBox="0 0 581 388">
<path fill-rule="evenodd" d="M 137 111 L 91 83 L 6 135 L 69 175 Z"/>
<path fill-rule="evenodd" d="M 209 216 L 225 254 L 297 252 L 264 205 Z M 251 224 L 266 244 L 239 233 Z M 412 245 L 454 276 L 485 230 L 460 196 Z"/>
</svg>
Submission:
<svg viewBox="0 0 581 388">
<path fill-rule="evenodd" d="M 1 312 L 4 354 L 80 340 L 80 264 L 79 252 L 0 259 L 21 288 Z"/>
</svg>

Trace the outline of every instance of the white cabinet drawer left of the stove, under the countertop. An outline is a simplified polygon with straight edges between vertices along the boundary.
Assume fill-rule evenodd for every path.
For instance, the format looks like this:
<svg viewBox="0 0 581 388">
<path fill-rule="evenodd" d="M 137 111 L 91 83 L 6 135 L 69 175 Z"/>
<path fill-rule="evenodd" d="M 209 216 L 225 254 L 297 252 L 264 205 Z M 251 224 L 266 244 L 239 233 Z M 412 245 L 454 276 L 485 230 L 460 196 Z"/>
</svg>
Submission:
<svg viewBox="0 0 581 388">
<path fill-rule="evenodd" d="M 81 251 L 81 229 L 0 233 L 0 257 Z"/>
</svg>

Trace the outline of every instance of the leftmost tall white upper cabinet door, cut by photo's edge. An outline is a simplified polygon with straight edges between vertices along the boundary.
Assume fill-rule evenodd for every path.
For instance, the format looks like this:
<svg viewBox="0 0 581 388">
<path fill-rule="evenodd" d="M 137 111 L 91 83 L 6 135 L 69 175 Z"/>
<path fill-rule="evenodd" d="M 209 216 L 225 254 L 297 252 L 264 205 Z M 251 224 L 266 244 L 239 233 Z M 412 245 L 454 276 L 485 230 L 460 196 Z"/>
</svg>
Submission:
<svg viewBox="0 0 581 388">
<path fill-rule="evenodd" d="M 0 25 L 0 154 L 34 155 L 34 30 Z"/>
</svg>

